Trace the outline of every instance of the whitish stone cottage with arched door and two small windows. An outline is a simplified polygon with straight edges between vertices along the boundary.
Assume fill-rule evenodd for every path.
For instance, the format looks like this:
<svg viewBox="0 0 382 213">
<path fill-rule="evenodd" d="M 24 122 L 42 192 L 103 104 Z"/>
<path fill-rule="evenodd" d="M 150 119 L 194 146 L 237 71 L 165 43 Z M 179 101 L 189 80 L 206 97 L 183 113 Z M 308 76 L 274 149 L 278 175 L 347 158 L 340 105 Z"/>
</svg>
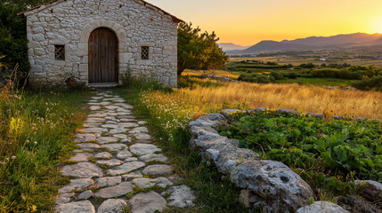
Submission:
<svg viewBox="0 0 382 213">
<path fill-rule="evenodd" d="M 26 12 L 29 83 L 122 83 L 133 75 L 176 86 L 177 24 L 142 0 L 53 0 Z"/>
</svg>

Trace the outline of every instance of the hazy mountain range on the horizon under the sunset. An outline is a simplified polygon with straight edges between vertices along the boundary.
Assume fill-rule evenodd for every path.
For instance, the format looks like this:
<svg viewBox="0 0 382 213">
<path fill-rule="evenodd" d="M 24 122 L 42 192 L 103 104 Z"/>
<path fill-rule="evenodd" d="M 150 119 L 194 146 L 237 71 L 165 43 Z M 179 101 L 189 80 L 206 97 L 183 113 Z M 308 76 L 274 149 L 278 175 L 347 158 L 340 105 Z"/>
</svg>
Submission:
<svg viewBox="0 0 382 213">
<path fill-rule="evenodd" d="M 229 54 L 257 54 L 257 53 L 272 53 L 282 51 L 310 51 L 310 50 L 329 50 L 349 48 L 355 46 L 371 46 L 382 44 L 382 34 L 364 34 L 355 33 L 348 35 L 337 36 L 312 36 L 306 38 L 298 38 L 295 40 L 276 41 L 261 41 L 248 48 L 236 48 L 235 46 L 243 47 L 230 43 L 230 45 L 219 45 Z M 228 47 L 228 48 L 227 48 Z"/>
</svg>

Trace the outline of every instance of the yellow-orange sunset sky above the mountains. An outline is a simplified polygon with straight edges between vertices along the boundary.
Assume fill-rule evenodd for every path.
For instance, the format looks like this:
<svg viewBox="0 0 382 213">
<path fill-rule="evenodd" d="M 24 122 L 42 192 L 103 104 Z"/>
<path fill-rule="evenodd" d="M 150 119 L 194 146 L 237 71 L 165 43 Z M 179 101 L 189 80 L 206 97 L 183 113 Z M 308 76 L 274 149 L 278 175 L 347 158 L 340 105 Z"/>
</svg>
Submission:
<svg viewBox="0 0 382 213">
<path fill-rule="evenodd" d="M 147 0 L 222 43 L 382 33 L 382 0 Z"/>
</svg>

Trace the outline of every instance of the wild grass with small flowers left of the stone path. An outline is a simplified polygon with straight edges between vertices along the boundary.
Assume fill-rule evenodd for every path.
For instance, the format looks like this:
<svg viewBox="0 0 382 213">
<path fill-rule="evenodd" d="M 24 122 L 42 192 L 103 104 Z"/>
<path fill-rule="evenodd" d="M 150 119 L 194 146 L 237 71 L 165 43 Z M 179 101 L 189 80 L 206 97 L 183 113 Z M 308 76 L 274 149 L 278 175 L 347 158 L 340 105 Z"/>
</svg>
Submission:
<svg viewBox="0 0 382 213">
<path fill-rule="evenodd" d="M 0 90 L 0 212 L 50 212 L 90 92 Z"/>
</svg>

